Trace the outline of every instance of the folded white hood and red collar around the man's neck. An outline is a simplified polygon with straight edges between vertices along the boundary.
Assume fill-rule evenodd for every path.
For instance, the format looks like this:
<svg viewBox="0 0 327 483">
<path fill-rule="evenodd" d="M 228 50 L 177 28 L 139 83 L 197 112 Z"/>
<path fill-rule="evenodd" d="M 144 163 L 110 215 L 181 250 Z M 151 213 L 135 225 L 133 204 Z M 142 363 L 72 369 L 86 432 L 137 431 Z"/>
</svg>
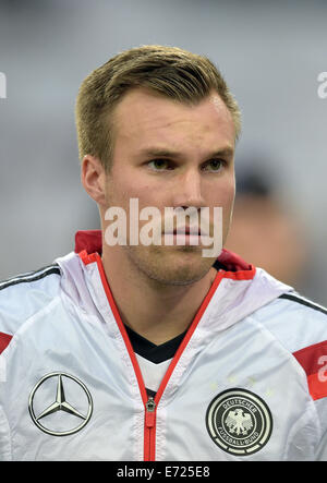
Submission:
<svg viewBox="0 0 327 483">
<path fill-rule="evenodd" d="M 112 322 L 118 322 L 120 316 L 100 253 L 101 231 L 78 231 L 75 251 L 56 262 L 62 271 L 62 290 L 71 305 L 77 305 L 89 322 L 93 317 L 98 321 L 100 315 L 102 322 L 117 333 L 117 324 Z M 199 323 L 211 334 L 235 324 L 282 293 L 293 291 L 292 287 L 228 250 L 222 250 L 214 266 L 217 268 L 216 279 L 195 317 L 196 325 Z"/>
</svg>

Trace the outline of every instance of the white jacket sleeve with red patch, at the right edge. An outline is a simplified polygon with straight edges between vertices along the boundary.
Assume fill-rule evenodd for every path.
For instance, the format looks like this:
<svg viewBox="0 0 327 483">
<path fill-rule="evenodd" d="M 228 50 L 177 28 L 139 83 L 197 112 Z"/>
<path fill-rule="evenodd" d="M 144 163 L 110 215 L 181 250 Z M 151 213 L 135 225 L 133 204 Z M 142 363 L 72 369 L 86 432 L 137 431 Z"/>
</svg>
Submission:
<svg viewBox="0 0 327 483">
<path fill-rule="evenodd" d="M 293 291 L 263 307 L 257 318 L 299 365 L 307 396 L 303 411 L 311 421 L 305 434 L 314 460 L 327 461 L 327 309 Z M 292 444 L 301 446 L 301 437 L 300 432 Z"/>
</svg>

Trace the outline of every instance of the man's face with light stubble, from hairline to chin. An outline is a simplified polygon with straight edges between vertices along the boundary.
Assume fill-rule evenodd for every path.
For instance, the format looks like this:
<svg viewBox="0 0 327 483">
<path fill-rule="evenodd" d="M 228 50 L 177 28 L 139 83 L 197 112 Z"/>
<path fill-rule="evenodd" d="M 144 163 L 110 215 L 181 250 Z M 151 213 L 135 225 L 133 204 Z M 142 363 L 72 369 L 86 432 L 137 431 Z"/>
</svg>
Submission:
<svg viewBox="0 0 327 483">
<path fill-rule="evenodd" d="M 130 214 L 130 200 L 138 212 L 165 208 L 222 208 L 225 242 L 234 201 L 234 124 L 219 96 L 213 93 L 196 106 L 159 97 L 149 90 L 128 93 L 114 112 L 112 168 L 106 179 L 106 206 Z M 146 221 L 138 221 L 140 230 Z M 187 225 L 187 222 L 186 222 Z M 108 221 L 104 220 L 106 229 Z M 213 234 L 211 225 L 210 234 Z M 119 246 L 132 266 L 166 285 L 187 285 L 203 278 L 215 258 L 203 256 L 203 245 L 175 244 Z M 128 238 L 129 240 L 129 238 Z M 105 250 L 105 249 L 104 249 Z M 107 247 L 106 247 L 107 250 Z"/>
</svg>

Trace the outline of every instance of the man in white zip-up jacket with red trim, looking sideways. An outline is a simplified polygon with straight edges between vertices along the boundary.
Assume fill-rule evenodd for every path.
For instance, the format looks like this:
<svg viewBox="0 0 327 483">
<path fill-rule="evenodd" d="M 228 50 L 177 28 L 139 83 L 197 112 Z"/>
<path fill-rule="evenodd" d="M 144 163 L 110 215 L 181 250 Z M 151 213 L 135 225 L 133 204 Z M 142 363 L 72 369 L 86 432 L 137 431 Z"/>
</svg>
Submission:
<svg viewBox="0 0 327 483">
<path fill-rule="evenodd" d="M 131 49 L 83 82 L 76 124 L 101 231 L 0 285 L 1 459 L 325 459 L 326 310 L 227 250 L 204 256 L 234 200 L 240 111 L 220 73 Z M 111 208 L 130 220 L 116 244 Z M 189 208 L 208 225 L 179 226 Z"/>
</svg>

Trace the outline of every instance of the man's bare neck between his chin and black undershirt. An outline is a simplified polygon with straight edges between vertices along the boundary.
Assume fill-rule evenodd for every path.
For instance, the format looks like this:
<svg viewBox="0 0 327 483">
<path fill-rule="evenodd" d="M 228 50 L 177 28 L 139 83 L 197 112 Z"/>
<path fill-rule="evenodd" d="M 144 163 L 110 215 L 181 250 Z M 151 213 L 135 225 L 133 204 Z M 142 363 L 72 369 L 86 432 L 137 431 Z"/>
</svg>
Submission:
<svg viewBox="0 0 327 483">
<path fill-rule="evenodd" d="M 156 345 L 186 330 L 217 274 L 210 268 L 201 280 L 189 285 L 161 283 L 113 246 L 104 251 L 102 264 L 122 322 Z"/>
</svg>

